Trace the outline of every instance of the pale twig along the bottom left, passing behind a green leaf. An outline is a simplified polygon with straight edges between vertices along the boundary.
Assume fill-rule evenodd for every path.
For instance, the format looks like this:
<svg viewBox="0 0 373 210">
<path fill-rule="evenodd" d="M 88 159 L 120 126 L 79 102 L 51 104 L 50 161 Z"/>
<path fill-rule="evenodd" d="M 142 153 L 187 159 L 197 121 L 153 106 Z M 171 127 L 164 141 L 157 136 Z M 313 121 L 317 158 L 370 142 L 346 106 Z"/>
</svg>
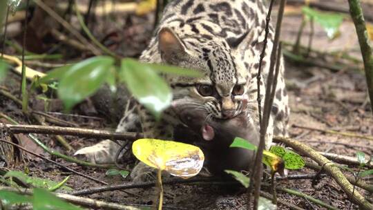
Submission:
<svg viewBox="0 0 373 210">
<path fill-rule="evenodd" d="M 26 195 L 32 195 L 32 190 L 30 189 L 14 189 L 11 187 L 0 187 L 1 191 L 10 191 L 10 192 L 15 192 L 15 193 L 20 193 L 20 194 L 26 194 Z M 74 195 L 68 195 L 65 193 L 53 193 L 55 194 L 58 198 L 61 198 L 62 200 L 66 200 L 68 202 L 72 202 L 74 204 L 78 204 L 84 207 L 90 207 L 93 209 L 116 209 L 116 210 L 141 210 L 136 207 L 131 207 L 127 205 L 122 205 L 122 204 L 117 204 L 113 202 L 103 202 L 100 200 L 94 200 L 91 198 L 82 198 L 82 197 L 77 197 Z"/>
</svg>

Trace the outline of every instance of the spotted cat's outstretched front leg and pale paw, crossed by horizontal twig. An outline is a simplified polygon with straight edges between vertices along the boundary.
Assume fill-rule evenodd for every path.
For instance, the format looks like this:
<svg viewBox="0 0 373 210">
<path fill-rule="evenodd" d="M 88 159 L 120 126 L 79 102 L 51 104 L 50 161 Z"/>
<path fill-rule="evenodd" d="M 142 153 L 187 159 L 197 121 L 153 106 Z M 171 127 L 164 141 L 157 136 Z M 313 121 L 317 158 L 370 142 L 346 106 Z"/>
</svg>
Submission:
<svg viewBox="0 0 373 210">
<path fill-rule="evenodd" d="M 135 108 L 124 113 L 120 120 L 116 132 L 139 131 L 140 120 Z M 103 140 L 93 146 L 87 146 L 79 149 L 74 155 L 81 160 L 94 162 L 97 164 L 112 164 L 115 162 L 117 151 L 124 144 L 124 141 L 113 142 L 112 140 Z"/>
</svg>

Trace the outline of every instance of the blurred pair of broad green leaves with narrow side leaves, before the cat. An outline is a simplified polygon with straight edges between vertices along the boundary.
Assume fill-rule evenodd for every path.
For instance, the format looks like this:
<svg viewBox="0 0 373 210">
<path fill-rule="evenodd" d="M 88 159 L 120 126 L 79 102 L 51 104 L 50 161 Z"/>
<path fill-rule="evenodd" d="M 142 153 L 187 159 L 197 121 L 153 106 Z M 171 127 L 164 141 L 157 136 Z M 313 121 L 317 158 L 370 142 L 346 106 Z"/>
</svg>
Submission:
<svg viewBox="0 0 373 210">
<path fill-rule="evenodd" d="M 133 96 L 159 119 L 172 99 L 172 93 L 159 73 L 176 74 L 186 77 L 198 77 L 200 73 L 174 66 L 143 64 L 135 59 L 122 59 L 115 66 L 115 59 L 108 56 L 91 57 L 77 64 L 51 70 L 39 84 L 58 80 L 57 93 L 69 111 L 75 104 L 93 95 L 97 89 L 107 83 L 115 91 L 117 81 L 124 82 Z"/>
</svg>

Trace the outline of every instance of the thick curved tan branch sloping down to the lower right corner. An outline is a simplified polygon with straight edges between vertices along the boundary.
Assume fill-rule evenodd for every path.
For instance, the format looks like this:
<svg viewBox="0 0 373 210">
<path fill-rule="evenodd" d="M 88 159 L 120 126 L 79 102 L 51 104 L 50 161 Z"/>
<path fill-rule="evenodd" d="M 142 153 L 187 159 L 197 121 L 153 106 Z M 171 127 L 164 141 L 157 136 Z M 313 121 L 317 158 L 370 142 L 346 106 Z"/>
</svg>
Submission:
<svg viewBox="0 0 373 210">
<path fill-rule="evenodd" d="M 329 175 L 332 175 L 334 180 L 336 180 L 336 182 L 341 186 L 343 191 L 345 191 L 345 193 L 352 199 L 352 201 L 356 202 L 356 204 L 358 204 L 361 209 L 373 209 L 373 205 L 370 204 L 370 202 L 367 202 L 367 200 L 365 200 L 361 193 L 358 193 L 358 191 L 354 191 L 354 193 L 352 193 L 352 184 L 350 184 L 350 182 L 345 178 L 336 164 L 332 164 L 329 160 L 327 160 L 327 158 L 314 151 L 314 149 L 312 149 L 311 147 L 296 140 L 291 140 L 291 138 L 275 137 L 274 140 L 282 142 L 287 146 L 295 149 L 296 151 L 307 155 L 309 158 L 312 158 L 312 160 L 316 161 L 319 165 L 322 165 L 323 169 L 325 169 L 325 171 L 327 171 Z"/>
</svg>

